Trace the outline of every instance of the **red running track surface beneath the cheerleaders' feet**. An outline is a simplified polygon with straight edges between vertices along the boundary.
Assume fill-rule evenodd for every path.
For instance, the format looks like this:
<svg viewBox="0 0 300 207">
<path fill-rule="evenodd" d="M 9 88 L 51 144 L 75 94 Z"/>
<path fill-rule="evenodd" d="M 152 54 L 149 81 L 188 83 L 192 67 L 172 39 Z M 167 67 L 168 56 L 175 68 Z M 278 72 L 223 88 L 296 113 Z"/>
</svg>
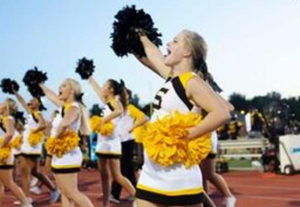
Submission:
<svg viewBox="0 0 300 207">
<path fill-rule="evenodd" d="M 236 207 L 295 207 L 300 206 L 300 174 L 287 176 L 261 172 L 228 172 L 222 174 L 229 183 L 237 198 Z M 98 172 L 81 170 L 79 173 L 79 188 L 96 206 L 101 206 L 101 182 Z M 211 198 L 218 207 L 222 204 L 222 195 L 210 186 Z M 33 195 L 33 206 L 61 206 L 59 202 L 48 203 L 48 192 L 43 188 L 41 195 Z M 126 197 L 126 193 L 122 193 Z M 14 206 L 14 196 L 6 192 L 3 207 Z M 122 200 L 120 204 L 111 207 L 129 207 L 131 204 Z M 2 206 L 1 206 L 2 207 Z"/>
</svg>

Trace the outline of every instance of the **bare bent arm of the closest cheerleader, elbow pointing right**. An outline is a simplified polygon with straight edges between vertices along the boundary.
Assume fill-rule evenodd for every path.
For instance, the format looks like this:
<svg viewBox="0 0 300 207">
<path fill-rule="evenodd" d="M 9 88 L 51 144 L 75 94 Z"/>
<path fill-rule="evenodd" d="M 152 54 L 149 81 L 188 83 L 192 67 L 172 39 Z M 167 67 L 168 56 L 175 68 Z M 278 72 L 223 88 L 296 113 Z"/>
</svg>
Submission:
<svg viewBox="0 0 300 207">
<path fill-rule="evenodd" d="M 212 131 L 230 118 L 228 108 L 200 77 L 192 77 L 187 82 L 186 93 L 196 106 L 207 112 L 207 115 L 198 125 L 190 128 L 189 138 L 199 137 Z"/>
</svg>

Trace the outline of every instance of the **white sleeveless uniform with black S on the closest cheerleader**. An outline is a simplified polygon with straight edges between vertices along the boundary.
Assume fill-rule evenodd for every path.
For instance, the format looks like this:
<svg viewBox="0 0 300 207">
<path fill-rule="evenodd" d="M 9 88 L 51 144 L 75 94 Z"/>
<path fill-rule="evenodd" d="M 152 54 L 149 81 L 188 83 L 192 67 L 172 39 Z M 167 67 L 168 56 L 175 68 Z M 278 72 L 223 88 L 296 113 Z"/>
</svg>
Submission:
<svg viewBox="0 0 300 207">
<path fill-rule="evenodd" d="M 179 111 L 188 113 L 194 107 L 185 94 L 192 72 L 168 78 L 156 93 L 150 121 Z M 185 168 L 178 163 L 162 166 L 149 159 L 144 151 L 144 164 L 137 182 L 136 197 L 162 205 L 193 205 L 203 199 L 202 175 L 198 165 Z"/>
</svg>

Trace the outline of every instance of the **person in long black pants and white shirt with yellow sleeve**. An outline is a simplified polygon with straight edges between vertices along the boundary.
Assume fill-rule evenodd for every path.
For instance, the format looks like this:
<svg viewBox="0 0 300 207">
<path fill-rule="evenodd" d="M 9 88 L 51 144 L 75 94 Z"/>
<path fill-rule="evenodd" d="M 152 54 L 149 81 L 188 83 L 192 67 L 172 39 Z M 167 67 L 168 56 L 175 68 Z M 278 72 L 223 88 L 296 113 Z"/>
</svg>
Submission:
<svg viewBox="0 0 300 207">
<path fill-rule="evenodd" d="M 131 100 L 131 90 L 126 89 L 127 108 L 118 122 L 117 136 L 121 140 L 121 173 L 127 177 L 133 186 L 136 185 L 135 169 L 133 164 L 134 137 L 133 129 L 147 122 L 147 116 L 135 107 Z M 115 181 L 111 184 L 110 201 L 119 203 L 122 186 Z"/>
</svg>

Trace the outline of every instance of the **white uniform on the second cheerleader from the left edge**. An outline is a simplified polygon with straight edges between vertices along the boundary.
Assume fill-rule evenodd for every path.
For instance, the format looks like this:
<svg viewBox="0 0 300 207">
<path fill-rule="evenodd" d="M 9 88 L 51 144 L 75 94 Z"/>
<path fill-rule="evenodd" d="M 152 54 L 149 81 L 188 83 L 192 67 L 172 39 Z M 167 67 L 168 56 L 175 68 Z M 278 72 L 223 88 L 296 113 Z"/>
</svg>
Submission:
<svg viewBox="0 0 300 207">
<path fill-rule="evenodd" d="M 30 131 L 38 126 L 38 119 L 37 119 L 38 115 L 41 114 L 39 111 L 36 111 L 29 114 L 26 119 L 26 124 L 24 126 L 24 131 L 23 131 L 23 143 L 20 148 L 20 152 L 22 156 L 39 157 L 41 155 L 42 141 L 40 143 L 37 143 L 35 146 L 31 146 L 28 143 L 28 137 Z"/>
</svg>

